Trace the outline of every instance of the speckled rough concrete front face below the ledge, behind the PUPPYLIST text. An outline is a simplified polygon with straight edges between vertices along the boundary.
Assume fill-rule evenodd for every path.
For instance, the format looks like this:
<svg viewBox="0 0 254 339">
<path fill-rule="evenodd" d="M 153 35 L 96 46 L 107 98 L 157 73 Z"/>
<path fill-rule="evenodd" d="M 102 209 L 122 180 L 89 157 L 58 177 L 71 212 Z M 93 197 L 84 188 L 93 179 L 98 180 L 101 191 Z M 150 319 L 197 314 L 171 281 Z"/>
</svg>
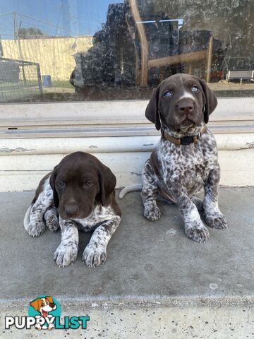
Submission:
<svg viewBox="0 0 254 339">
<path fill-rule="evenodd" d="M 247 307 L 104 307 L 87 309 L 61 304 L 63 316 L 88 314 L 83 330 L 37 331 L 11 327 L 1 330 L 3 339 L 247 339 L 253 338 L 253 312 Z M 1 314 L 7 314 L 6 309 Z M 10 314 L 10 311 L 8 311 Z M 26 309 L 15 309 L 13 316 L 27 316 Z M 63 322 L 63 321 L 61 321 Z M 4 323 L 4 321 L 3 321 Z"/>
</svg>

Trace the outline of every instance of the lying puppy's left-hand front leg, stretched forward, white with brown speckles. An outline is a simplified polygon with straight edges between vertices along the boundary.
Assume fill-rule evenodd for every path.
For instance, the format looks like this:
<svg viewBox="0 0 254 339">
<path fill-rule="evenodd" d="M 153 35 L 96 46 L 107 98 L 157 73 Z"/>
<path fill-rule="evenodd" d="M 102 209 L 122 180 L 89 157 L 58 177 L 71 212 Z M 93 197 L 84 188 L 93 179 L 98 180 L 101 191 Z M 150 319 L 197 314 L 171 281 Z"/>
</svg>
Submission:
<svg viewBox="0 0 254 339">
<path fill-rule="evenodd" d="M 63 220 L 59 216 L 61 243 L 54 253 L 56 265 L 64 267 L 73 263 L 78 254 L 78 225 L 72 220 Z"/>
</svg>

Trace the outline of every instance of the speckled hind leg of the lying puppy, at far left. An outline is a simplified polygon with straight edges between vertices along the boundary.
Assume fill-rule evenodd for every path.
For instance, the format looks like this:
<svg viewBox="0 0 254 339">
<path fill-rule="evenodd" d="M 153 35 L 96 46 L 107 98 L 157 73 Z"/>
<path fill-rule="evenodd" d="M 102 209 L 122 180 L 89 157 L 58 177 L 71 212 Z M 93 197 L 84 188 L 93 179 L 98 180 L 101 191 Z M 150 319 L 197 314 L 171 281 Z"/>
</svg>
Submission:
<svg viewBox="0 0 254 339">
<path fill-rule="evenodd" d="M 28 213 L 26 213 L 25 216 L 26 220 L 26 222 L 24 220 L 25 230 L 28 231 L 28 234 L 31 237 L 38 237 L 44 232 L 45 225 L 43 221 L 43 216 L 47 208 L 49 208 L 49 206 L 51 206 L 52 203 L 53 203 L 53 191 L 49 184 L 49 178 L 47 178 L 44 181 L 42 191 L 37 197 L 37 200 L 32 206 L 30 206 L 30 215 L 28 216 L 27 215 Z"/>
</svg>

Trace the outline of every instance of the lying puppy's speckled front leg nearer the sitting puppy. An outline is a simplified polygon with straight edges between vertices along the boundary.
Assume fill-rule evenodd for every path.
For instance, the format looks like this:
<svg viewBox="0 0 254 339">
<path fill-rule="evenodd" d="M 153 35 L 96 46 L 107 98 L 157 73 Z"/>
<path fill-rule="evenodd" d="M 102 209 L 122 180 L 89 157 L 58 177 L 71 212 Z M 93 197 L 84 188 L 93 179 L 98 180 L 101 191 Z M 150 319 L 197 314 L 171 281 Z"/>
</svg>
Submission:
<svg viewBox="0 0 254 339">
<path fill-rule="evenodd" d="M 115 215 L 95 229 L 83 253 L 83 261 L 85 261 L 87 266 L 96 267 L 106 261 L 107 244 L 119 226 L 120 221 L 119 215 Z"/>
</svg>

